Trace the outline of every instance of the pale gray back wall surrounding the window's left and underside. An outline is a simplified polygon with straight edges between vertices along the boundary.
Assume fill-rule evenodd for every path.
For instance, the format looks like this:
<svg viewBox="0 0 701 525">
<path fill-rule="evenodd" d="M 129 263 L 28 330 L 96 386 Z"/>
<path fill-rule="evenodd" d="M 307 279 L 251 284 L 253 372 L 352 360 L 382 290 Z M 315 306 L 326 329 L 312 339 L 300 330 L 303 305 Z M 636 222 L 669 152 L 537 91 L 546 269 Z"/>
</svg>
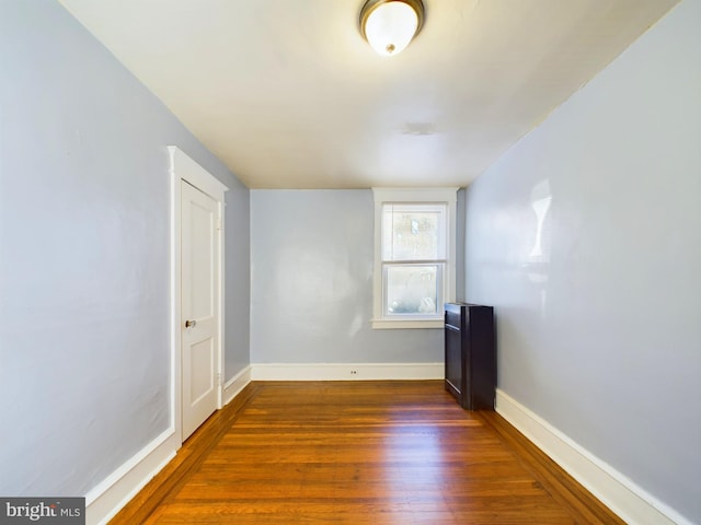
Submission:
<svg viewBox="0 0 701 525">
<path fill-rule="evenodd" d="M 374 330 L 371 190 L 251 191 L 253 363 L 443 361 L 438 329 Z"/>
</svg>

